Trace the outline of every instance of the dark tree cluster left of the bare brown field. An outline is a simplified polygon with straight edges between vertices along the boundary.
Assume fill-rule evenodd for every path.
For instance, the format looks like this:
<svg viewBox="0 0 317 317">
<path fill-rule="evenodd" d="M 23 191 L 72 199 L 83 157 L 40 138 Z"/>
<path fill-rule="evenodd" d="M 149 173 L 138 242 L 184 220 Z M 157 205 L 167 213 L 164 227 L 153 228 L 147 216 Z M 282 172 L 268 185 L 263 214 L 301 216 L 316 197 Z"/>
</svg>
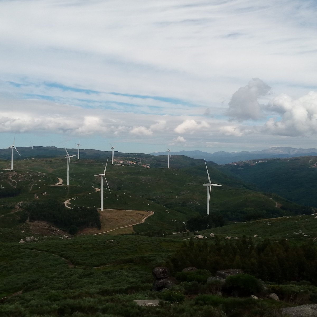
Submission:
<svg viewBox="0 0 317 317">
<path fill-rule="evenodd" d="M 101 223 L 96 208 L 79 207 L 66 209 L 64 204 L 55 200 L 32 202 L 23 205 L 23 209 L 28 212 L 29 220 L 44 220 L 54 223 L 61 229 L 71 230 L 75 233 L 75 228 L 97 227 L 100 229 Z"/>
</svg>

